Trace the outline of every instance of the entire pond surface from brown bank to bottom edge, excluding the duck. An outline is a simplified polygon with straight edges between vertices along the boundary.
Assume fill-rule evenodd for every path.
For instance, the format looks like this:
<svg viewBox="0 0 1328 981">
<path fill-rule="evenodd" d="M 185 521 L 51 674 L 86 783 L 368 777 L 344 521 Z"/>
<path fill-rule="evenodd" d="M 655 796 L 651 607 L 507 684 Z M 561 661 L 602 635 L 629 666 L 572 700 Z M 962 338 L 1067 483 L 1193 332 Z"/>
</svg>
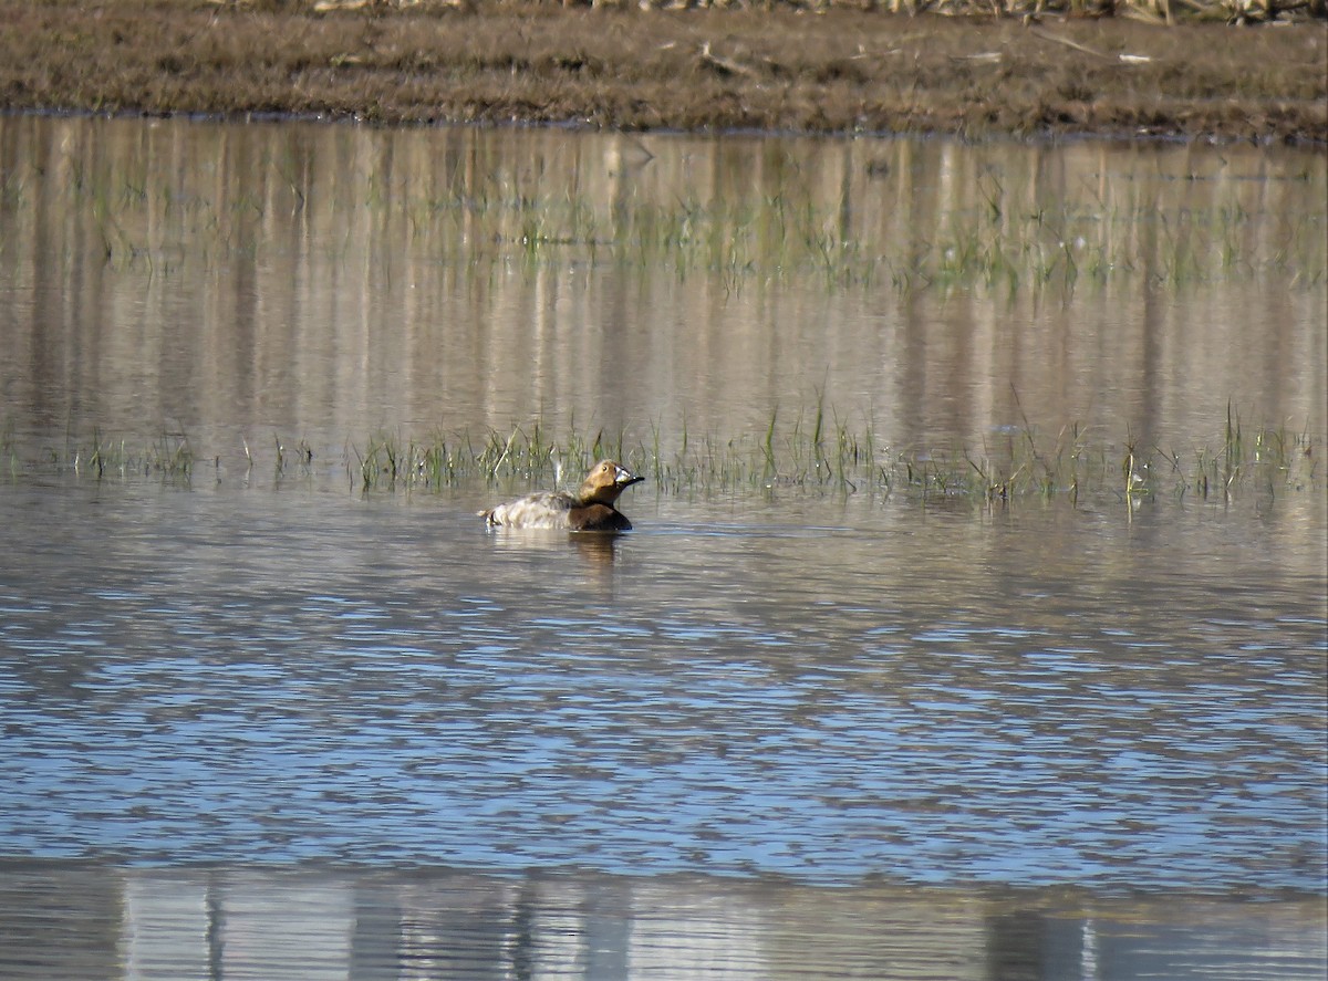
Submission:
<svg viewBox="0 0 1328 981">
<path fill-rule="evenodd" d="M 0 976 L 1323 977 L 1321 153 L 0 174 Z"/>
</svg>

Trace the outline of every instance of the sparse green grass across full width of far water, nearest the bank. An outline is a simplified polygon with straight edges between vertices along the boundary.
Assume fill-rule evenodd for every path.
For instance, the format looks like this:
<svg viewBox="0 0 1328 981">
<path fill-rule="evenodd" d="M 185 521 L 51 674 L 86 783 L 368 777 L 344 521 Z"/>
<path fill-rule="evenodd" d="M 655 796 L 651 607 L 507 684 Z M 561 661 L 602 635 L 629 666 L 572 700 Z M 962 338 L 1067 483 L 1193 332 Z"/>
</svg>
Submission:
<svg viewBox="0 0 1328 981">
<path fill-rule="evenodd" d="M 413 153 L 428 150 L 418 143 Z M 1208 181 L 1190 174 L 1173 182 L 1179 190 L 1158 196 L 1142 178 L 1121 182 L 1110 194 L 1078 185 L 1062 192 L 1054 182 L 988 173 L 942 187 L 927 173 L 939 162 L 918 147 L 863 142 L 843 150 L 838 191 L 807 182 L 802 170 L 822 167 L 829 158 L 797 154 L 778 161 L 789 177 L 769 177 L 758 195 L 706 186 L 655 194 L 628 183 L 610 196 L 590 178 L 587 163 L 571 186 L 566 175 L 494 165 L 457 169 L 438 182 L 394 178 L 386 198 L 381 189 L 388 178 L 369 166 L 347 178 L 337 207 L 363 207 L 384 228 L 398 222 L 410 248 L 430 262 L 446 255 L 477 268 L 511 260 L 543 268 L 586 262 L 660 268 L 680 280 L 712 276 L 730 289 L 806 281 L 899 293 L 985 287 L 1054 295 L 1127 279 L 1193 288 L 1267 275 L 1317 289 L 1328 269 L 1321 206 L 1254 208 L 1242 196 L 1250 186 L 1266 186 L 1270 195 L 1286 192 L 1293 202 L 1304 185 L 1317 200 L 1323 179 L 1312 169 L 1279 178 Z M 923 161 L 927 167 L 920 169 Z M 433 173 L 426 159 L 416 162 L 418 173 Z M 708 166 L 718 174 L 722 162 L 716 157 Z M 1037 166 L 1033 158 L 1021 163 Z M 293 159 L 276 155 L 259 166 L 280 192 L 266 199 L 239 191 L 218 195 L 215 189 L 182 185 L 175 171 L 145 170 L 108 154 L 105 163 L 77 165 L 52 200 L 86 216 L 96 230 L 93 250 L 110 268 L 162 277 L 211 272 L 224 256 L 286 248 L 270 238 L 272 216 L 308 207 L 305 191 L 291 177 Z M 653 166 L 664 170 L 663 163 Z M 661 186 L 673 182 L 669 174 Z M 16 167 L 0 178 L 0 198 L 28 202 L 28 186 L 40 186 L 39 178 Z M 896 200 L 914 202 L 907 220 L 895 218 Z M 459 255 L 456 243 L 467 243 Z"/>
</svg>

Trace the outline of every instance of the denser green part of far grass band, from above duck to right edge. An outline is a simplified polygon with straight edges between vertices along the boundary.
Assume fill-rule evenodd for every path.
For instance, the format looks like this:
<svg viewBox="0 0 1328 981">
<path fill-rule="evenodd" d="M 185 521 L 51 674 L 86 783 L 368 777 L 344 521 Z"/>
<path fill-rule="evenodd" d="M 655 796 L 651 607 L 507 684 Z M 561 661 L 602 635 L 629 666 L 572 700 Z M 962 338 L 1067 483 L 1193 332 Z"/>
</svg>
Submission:
<svg viewBox="0 0 1328 981">
<path fill-rule="evenodd" d="M 456 211 L 458 223 L 491 223 L 486 240 L 507 243 L 530 263 L 563 262 L 584 251 L 594 262 L 663 267 L 680 279 L 704 273 L 728 288 L 744 281 L 819 279 L 827 288 L 987 287 L 1070 292 L 1081 283 L 1142 277 L 1187 288 L 1263 272 L 1289 273 L 1301 287 L 1321 285 L 1321 227 L 1283 230 L 1283 246 L 1266 259 L 1251 254 L 1259 222 L 1223 203 L 1167 211 L 1150 206 L 1084 202 L 1028 208 L 999 183 L 977 207 L 955 200 L 934 220 L 879 236 L 878 230 L 842 222 L 845 200 L 631 202 L 599 215 L 586 202 L 542 196 L 518 203 L 486 199 L 436 203 L 434 222 Z M 534 214 L 531 214 L 534 212 Z"/>
</svg>

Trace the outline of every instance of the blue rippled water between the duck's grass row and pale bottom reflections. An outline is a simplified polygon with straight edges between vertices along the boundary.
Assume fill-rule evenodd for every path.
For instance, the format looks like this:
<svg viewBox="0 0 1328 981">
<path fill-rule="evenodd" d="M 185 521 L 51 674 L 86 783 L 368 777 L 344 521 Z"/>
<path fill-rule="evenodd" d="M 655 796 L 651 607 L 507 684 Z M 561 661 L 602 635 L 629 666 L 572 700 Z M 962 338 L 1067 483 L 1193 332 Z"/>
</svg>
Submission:
<svg viewBox="0 0 1328 981">
<path fill-rule="evenodd" d="M 1323 887 L 1313 502 L 587 551 L 485 492 L 0 490 L 5 852 Z"/>
</svg>

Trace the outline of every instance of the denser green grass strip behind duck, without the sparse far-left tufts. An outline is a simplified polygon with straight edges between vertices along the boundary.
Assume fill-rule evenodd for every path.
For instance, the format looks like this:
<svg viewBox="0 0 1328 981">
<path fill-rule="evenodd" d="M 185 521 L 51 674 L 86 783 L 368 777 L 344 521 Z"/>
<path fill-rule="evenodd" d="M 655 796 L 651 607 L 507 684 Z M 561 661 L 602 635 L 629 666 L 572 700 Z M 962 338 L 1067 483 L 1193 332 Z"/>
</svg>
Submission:
<svg viewBox="0 0 1328 981">
<path fill-rule="evenodd" d="M 554 437 L 535 423 L 482 438 L 434 433 L 422 439 L 380 433 L 364 449 L 348 447 L 352 490 L 381 492 L 442 490 L 487 481 L 505 486 L 574 486 L 596 459 L 614 457 L 651 478 L 664 494 L 713 495 L 764 491 L 903 496 L 926 503 L 961 498 L 985 506 L 1020 500 L 1110 496 L 1130 502 L 1231 502 L 1258 492 L 1279 495 L 1323 489 L 1320 453 L 1305 433 L 1258 429 L 1247 433 L 1232 410 L 1218 447 L 1185 453 L 1142 445 L 1130 433 L 1121 443 L 1090 438 L 1069 423 L 1044 437 L 1027 423 L 980 449 L 894 447 L 879 441 L 875 423 L 853 426 L 823 400 L 781 422 L 772 413 L 758 433 L 697 437 L 680 427 L 673 451 L 661 431 L 632 442 L 622 431 Z"/>
</svg>

